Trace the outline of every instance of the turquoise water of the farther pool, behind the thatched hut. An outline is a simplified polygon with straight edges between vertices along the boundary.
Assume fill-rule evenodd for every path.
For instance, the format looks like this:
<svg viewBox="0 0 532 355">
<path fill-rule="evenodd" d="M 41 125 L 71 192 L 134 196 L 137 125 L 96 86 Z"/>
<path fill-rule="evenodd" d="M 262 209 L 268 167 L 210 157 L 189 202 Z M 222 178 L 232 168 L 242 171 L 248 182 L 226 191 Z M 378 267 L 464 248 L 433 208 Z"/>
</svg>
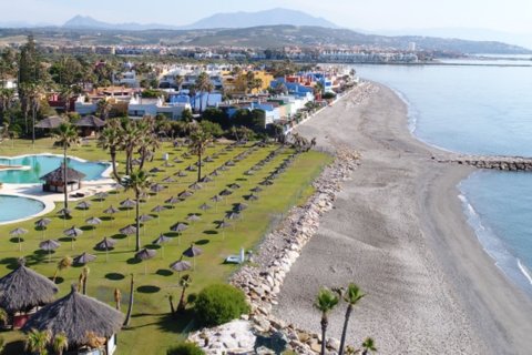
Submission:
<svg viewBox="0 0 532 355">
<path fill-rule="evenodd" d="M 86 176 L 83 180 L 99 180 L 109 168 L 108 163 L 80 162 L 75 159 L 66 159 L 68 165 Z M 0 165 L 30 166 L 29 170 L 3 170 L 0 171 L 0 182 L 12 184 L 40 183 L 39 178 L 58 169 L 63 162 L 62 156 L 55 155 L 28 155 L 14 159 L 0 159 Z"/>
</svg>

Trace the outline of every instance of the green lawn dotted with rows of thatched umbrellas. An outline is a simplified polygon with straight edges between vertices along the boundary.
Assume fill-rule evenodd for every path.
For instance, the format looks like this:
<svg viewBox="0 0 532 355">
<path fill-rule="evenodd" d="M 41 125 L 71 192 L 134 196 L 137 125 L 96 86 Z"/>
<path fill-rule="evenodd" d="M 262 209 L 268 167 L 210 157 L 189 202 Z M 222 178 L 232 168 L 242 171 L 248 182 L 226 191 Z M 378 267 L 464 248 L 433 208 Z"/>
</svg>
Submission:
<svg viewBox="0 0 532 355">
<path fill-rule="evenodd" d="M 225 148 L 226 145 L 216 144 L 208 149 L 207 154 L 222 152 Z M 63 256 L 74 256 L 82 252 L 94 254 L 98 256 L 96 261 L 89 264 L 88 294 L 90 296 L 114 306 L 113 292 L 115 288 L 119 288 L 122 292 L 122 311 L 125 313 L 129 300 L 129 275 L 132 273 L 135 275 L 134 315 L 131 327 L 119 334 L 117 354 L 165 354 L 166 348 L 181 339 L 184 336 L 183 332 L 185 331 L 186 333 L 193 326 L 191 318 L 186 316 L 180 320 L 171 320 L 167 315 L 170 312 L 167 295 L 173 294 L 174 300 L 178 300 L 181 294 L 178 275 L 172 272 L 168 265 L 180 260 L 183 251 L 194 242 L 204 253 L 196 258 L 196 270 L 190 272 L 193 283 L 187 292 L 197 293 L 205 285 L 226 281 L 237 266 L 224 264 L 225 257 L 231 254 L 238 254 L 241 247 L 253 250 L 265 233 L 283 219 L 283 215 L 290 206 L 304 202 L 311 194 L 311 181 L 319 174 L 323 166 L 331 160 L 330 156 L 319 152 L 297 155 L 289 168 L 275 180 L 274 185 L 262 186 L 264 191 L 258 193 L 258 201 L 245 201 L 244 196 L 250 193 L 249 189 L 257 186 L 284 159 L 293 153 L 291 150 L 284 149 L 280 154 L 266 163 L 254 175 L 244 173 L 277 148 L 270 145 L 253 151 L 247 158 L 236 162 L 235 166 L 222 172 L 219 176 L 214 179 L 214 182 L 202 184 L 203 189 L 196 191 L 192 197 L 175 204 L 173 209 L 163 211 L 158 220 L 154 219 L 146 222 L 141 233 L 142 244 L 151 248 L 157 248 L 155 258 L 142 263 L 136 262 L 133 257 L 134 235 L 124 237 L 119 234 L 119 229 L 134 223 L 134 210 L 131 210 L 129 216 L 126 211 L 114 214 L 113 220 L 106 220 L 96 226 L 94 233 L 91 226 L 84 223 L 85 219 L 91 216 L 105 220 L 106 215 L 103 213 L 103 210 L 110 205 L 119 207 L 119 203 L 126 197 L 133 199 L 132 193 L 120 191 L 116 194 L 110 194 L 106 201 L 103 202 L 88 197 L 86 201 L 92 203 L 91 209 L 85 213 L 74 210 L 72 220 L 68 220 L 65 223 L 55 214 L 55 211 L 62 207 L 62 203 L 57 204 L 55 211 L 48 215 L 48 217 L 52 219 L 52 223 L 45 231 L 45 239 L 59 239 L 62 245 L 52 254 L 51 263 L 48 261 L 48 254 L 39 251 L 42 232 L 35 231 L 33 226 L 33 222 L 37 219 L 24 223 L 0 226 L 0 235 L 2 236 L 0 240 L 0 275 L 4 275 L 12 270 L 17 264 L 17 258 L 20 256 L 25 257 L 27 265 L 37 272 L 52 276 L 58 261 Z M 226 151 L 215 159 L 214 162 L 206 163 L 204 172 L 209 173 L 246 150 L 250 150 L 250 144 Z M 11 146 L 10 142 L 0 145 L 0 155 L 41 152 L 61 153 L 60 150 L 52 148 L 51 140 L 39 140 L 34 148 L 31 146 L 31 143 L 28 144 L 27 141 L 21 140 L 16 141 L 14 146 Z M 162 166 L 164 163 L 161 159 L 163 152 L 170 154 L 170 162 L 174 166 Z M 154 182 L 162 183 L 162 180 L 167 176 L 175 178 L 177 182 L 162 183 L 167 185 L 168 189 L 157 195 L 151 195 L 145 203 L 142 203 L 141 213 L 152 214 L 150 211 L 155 205 L 165 204 L 164 200 L 177 195 L 195 181 L 196 172 L 187 172 L 186 178 L 174 176 L 174 173 L 177 171 L 184 170 L 190 164 L 196 162 L 195 156 L 183 159 L 183 163 L 172 162 L 174 158 L 182 156 L 185 152 L 186 148 L 174 149 L 165 143 L 157 151 L 155 160 L 147 163 L 146 170 L 155 166 L 164 170 L 164 172 L 154 174 Z M 98 149 L 94 143 L 73 148 L 69 151 L 69 154 L 88 160 L 108 159 L 108 154 Z M 120 166 L 123 166 L 122 160 L 123 156 L 119 156 Z M 234 190 L 232 195 L 219 202 L 215 207 L 215 204 L 209 199 L 222 190 L 227 189 L 227 185 L 232 183 L 239 184 L 241 189 Z M 233 209 L 233 204 L 238 202 L 246 203 L 248 207 L 242 213 L 241 220 L 229 221 L 232 226 L 225 230 L 225 239 L 223 239 L 223 233 L 216 229 L 214 222 L 222 220 L 225 213 Z M 198 207 L 203 203 L 212 205 L 213 209 L 206 212 L 201 211 Z M 71 202 L 71 207 L 75 205 L 76 202 Z M 171 225 L 177 222 L 186 222 L 186 216 L 191 213 L 200 214 L 202 220 L 190 223 L 188 230 L 181 237 L 170 232 Z M 72 225 L 85 230 L 83 235 L 74 242 L 73 251 L 71 250 L 70 240 L 63 237 L 64 226 L 70 227 Z M 23 236 L 22 252 L 19 252 L 18 244 L 9 236 L 9 231 L 17 226 L 30 231 L 30 233 Z M 164 245 L 164 257 L 162 248 L 151 244 L 160 233 L 172 236 L 172 241 Z M 105 261 L 105 252 L 94 250 L 94 245 L 104 236 L 117 240 L 116 247 L 109 252 L 109 262 Z M 184 258 L 187 260 L 186 257 Z M 145 267 L 147 268 L 147 274 L 144 274 Z M 74 266 L 60 275 L 59 296 L 66 294 L 70 290 L 70 284 L 78 282 L 81 271 L 82 267 Z M 23 335 L 19 332 L 8 332 L 0 335 L 6 337 L 8 342 L 23 339 Z"/>
</svg>

